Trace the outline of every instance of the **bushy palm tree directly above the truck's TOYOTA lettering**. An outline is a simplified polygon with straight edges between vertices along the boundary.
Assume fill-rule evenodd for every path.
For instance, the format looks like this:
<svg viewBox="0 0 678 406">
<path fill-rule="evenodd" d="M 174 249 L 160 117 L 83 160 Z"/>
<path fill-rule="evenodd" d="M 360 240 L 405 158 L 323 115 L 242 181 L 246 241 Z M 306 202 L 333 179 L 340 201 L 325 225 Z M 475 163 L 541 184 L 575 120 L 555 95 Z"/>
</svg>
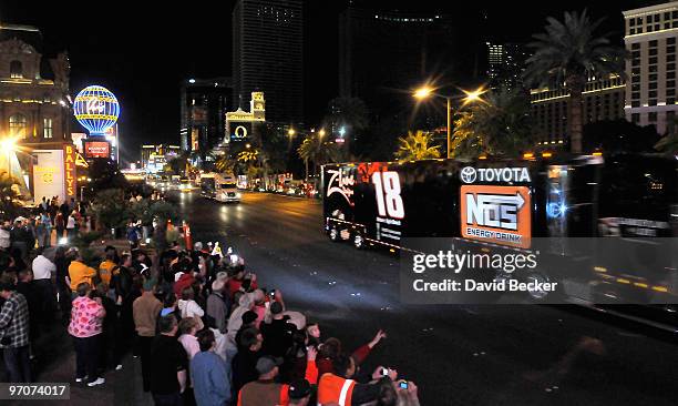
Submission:
<svg viewBox="0 0 678 406">
<path fill-rule="evenodd" d="M 482 103 L 461 113 L 454 123 L 453 156 L 477 156 L 481 153 L 515 156 L 530 148 L 534 125 L 530 100 L 520 90 L 496 89 Z"/>
</svg>

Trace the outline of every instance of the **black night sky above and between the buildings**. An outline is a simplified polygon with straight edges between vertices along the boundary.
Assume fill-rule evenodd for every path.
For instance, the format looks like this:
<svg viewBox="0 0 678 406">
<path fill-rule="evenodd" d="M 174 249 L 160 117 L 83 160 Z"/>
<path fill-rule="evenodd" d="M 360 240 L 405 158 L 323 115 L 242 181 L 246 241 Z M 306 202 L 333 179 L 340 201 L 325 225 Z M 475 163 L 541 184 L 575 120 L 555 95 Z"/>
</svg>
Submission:
<svg viewBox="0 0 678 406">
<path fill-rule="evenodd" d="M 573 0 L 536 6 L 532 1 L 353 1 L 367 8 L 451 14 L 459 21 L 459 34 L 469 39 L 464 41 L 468 52 L 460 58 L 480 52 L 481 60 L 484 49 L 480 44 L 485 40 L 526 42 L 532 33 L 541 31 L 546 16 L 561 18 L 566 10 L 588 8 L 595 18 L 605 17 L 603 31 L 620 41 L 622 10 L 656 2 Z M 142 3 L 158 6 L 140 8 Z M 69 51 L 73 95 L 92 83 L 117 95 L 123 158 L 135 161 L 141 143 L 178 143 L 178 88 L 183 79 L 230 75 L 234 3 L 52 1 L 29 7 L 25 0 L 2 0 L 0 21 L 38 27 L 48 54 Z M 337 17 L 347 3 L 307 1 L 305 108 L 311 125 L 337 94 Z M 79 130 L 75 123 L 73 131 Z"/>
</svg>

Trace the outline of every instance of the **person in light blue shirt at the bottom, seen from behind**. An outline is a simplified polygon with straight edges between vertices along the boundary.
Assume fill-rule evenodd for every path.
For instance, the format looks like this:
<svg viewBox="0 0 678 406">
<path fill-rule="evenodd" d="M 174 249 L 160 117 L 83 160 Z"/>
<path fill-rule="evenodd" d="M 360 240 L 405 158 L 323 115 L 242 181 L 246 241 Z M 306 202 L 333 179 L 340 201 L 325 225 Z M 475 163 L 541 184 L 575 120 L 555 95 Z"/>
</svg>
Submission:
<svg viewBox="0 0 678 406">
<path fill-rule="evenodd" d="M 198 406 L 228 405 L 230 374 L 228 364 L 215 354 L 216 339 L 209 328 L 198 333 L 199 352 L 191 361 L 191 380 Z"/>
</svg>

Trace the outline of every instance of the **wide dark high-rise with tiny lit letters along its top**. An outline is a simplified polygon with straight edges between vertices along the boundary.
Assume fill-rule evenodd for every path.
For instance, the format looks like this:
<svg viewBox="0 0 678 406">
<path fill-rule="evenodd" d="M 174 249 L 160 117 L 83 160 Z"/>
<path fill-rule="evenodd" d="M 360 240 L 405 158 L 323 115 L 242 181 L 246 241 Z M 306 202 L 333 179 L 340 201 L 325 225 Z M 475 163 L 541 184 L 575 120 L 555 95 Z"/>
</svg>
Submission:
<svg viewBox="0 0 678 406">
<path fill-rule="evenodd" d="M 453 27 L 446 16 L 349 7 L 339 16 L 339 95 L 362 99 L 377 118 L 402 110 L 398 101 L 411 104 L 403 92 L 444 82 Z"/>
</svg>

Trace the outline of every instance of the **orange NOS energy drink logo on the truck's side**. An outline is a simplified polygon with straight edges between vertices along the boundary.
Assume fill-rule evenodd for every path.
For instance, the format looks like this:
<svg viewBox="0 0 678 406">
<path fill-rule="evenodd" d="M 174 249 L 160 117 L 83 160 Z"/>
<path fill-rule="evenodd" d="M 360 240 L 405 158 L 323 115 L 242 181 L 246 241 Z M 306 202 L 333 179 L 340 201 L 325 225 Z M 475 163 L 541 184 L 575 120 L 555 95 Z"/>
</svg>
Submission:
<svg viewBox="0 0 678 406">
<path fill-rule="evenodd" d="M 525 186 L 461 186 L 462 236 L 528 248 L 532 217 Z"/>
</svg>

